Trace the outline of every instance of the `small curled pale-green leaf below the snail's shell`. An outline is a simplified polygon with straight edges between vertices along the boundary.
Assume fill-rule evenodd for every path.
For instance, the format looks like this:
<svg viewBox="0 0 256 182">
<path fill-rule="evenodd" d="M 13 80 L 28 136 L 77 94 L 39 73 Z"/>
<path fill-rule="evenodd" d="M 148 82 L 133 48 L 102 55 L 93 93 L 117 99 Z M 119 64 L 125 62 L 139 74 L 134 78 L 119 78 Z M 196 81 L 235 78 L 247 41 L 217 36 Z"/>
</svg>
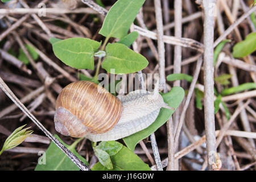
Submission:
<svg viewBox="0 0 256 182">
<path fill-rule="evenodd" d="M 97 156 L 98 161 L 101 163 L 102 166 L 108 169 L 113 169 L 112 161 L 110 159 L 109 154 L 106 151 L 101 150 L 99 147 L 95 147 L 94 153 Z"/>
</svg>

